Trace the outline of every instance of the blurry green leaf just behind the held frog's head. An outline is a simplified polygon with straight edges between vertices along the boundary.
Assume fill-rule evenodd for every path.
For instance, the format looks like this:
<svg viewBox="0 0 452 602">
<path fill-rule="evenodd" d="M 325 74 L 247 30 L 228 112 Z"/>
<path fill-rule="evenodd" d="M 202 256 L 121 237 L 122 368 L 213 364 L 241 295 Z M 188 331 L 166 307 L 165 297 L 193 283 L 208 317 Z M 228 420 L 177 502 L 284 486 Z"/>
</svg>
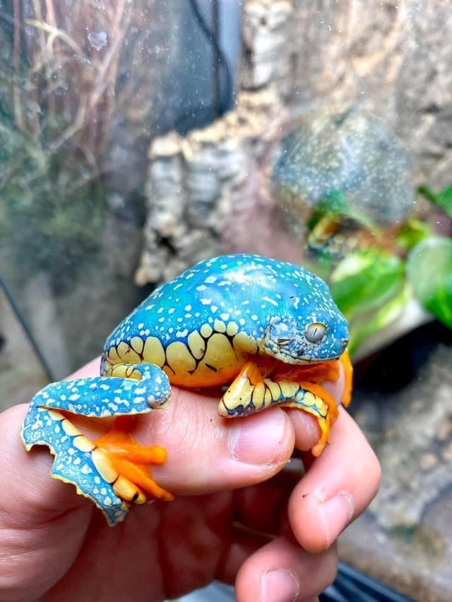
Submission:
<svg viewBox="0 0 452 602">
<path fill-rule="evenodd" d="M 350 320 L 356 313 L 377 308 L 403 287 L 402 260 L 386 251 L 371 248 L 353 253 L 331 274 L 333 299 Z"/>
</svg>

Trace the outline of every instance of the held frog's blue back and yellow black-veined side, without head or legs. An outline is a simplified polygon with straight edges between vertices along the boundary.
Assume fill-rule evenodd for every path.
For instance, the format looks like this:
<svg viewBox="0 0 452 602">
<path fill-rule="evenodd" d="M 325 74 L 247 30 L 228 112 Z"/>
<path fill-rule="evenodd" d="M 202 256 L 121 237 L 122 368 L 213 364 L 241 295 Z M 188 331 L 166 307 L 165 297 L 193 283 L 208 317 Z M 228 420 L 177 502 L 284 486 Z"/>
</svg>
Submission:
<svg viewBox="0 0 452 602">
<path fill-rule="evenodd" d="M 337 311 L 326 285 L 302 267 L 246 254 L 202 261 L 155 289 L 112 332 L 107 366 L 150 361 L 175 384 L 226 383 L 295 297 L 304 312 L 319 313 L 319 304 Z"/>
</svg>

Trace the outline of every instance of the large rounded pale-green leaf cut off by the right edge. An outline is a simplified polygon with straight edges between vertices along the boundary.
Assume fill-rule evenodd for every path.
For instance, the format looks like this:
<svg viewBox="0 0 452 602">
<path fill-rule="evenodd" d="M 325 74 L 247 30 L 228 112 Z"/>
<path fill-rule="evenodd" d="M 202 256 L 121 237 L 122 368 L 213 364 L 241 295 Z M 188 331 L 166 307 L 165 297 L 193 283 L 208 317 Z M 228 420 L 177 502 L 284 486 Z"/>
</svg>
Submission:
<svg viewBox="0 0 452 602">
<path fill-rule="evenodd" d="M 424 239 L 408 255 L 408 282 L 417 299 L 452 328 L 452 241 Z"/>
</svg>

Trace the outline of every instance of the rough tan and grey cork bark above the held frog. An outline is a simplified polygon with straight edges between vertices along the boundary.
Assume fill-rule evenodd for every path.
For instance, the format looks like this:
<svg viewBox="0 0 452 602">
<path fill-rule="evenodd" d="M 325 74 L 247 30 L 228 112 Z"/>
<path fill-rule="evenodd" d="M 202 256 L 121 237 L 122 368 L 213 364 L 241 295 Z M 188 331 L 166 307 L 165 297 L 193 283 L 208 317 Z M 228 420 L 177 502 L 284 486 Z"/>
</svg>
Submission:
<svg viewBox="0 0 452 602">
<path fill-rule="evenodd" d="M 452 167 L 452 12 L 447 0 L 248 0 L 234 109 L 149 153 L 148 219 L 136 281 L 158 282 L 223 251 L 299 260 L 273 215 L 268 153 L 290 119 L 357 105 L 398 135 L 416 184 Z"/>
</svg>

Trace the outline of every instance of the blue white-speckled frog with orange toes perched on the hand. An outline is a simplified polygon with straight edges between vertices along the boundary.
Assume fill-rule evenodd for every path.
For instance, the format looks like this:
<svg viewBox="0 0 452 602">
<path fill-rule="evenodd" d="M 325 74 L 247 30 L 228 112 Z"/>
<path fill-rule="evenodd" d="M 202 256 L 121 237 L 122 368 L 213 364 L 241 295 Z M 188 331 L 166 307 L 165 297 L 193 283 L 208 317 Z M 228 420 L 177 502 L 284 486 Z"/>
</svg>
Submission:
<svg viewBox="0 0 452 602">
<path fill-rule="evenodd" d="M 152 477 L 167 450 L 140 445 L 133 420 L 169 403 L 172 385 L 221 387 L 224 419 L 268 407 L 313 415 L 319 455 L 338 418 L 322 386 L 345 373 L 350 402 L 352 364 L 347 320 L 323 280 L 304 267 L 249 253 L 219 255 L 160 284 L 107 337 L 100 375 L 50 383 L 32 398 L 23 422 L 25 448 L 45 445 L 51 476 L 92 500 L 107 524 L 132 505 L 172 500 Z M 76 419 L 109 420 L 90 438 Z"/>
</svg>

